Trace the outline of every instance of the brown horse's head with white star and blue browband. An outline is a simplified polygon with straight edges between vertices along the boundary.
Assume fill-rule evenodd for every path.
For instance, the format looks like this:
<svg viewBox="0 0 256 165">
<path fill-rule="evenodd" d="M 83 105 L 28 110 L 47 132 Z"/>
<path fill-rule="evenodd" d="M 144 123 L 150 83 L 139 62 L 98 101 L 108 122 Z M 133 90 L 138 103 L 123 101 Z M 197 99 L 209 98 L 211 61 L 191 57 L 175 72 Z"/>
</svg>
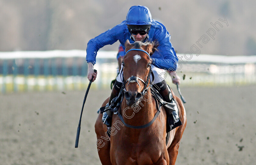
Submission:
<svg viewBox="0 0 256 165">
<path fill-rule="evenodd" d="M 123 82 L 126 92 L 124 94 L 128 106 L 138 104 L 140 98 L 149 86 L 151 72 L 150 57 L 153 43 L 136 41 L 130 44 L 125 42 L 126 55 L 123 58 Z M 136 50 L 137 49 L 137 50 Z"/>
</svg>

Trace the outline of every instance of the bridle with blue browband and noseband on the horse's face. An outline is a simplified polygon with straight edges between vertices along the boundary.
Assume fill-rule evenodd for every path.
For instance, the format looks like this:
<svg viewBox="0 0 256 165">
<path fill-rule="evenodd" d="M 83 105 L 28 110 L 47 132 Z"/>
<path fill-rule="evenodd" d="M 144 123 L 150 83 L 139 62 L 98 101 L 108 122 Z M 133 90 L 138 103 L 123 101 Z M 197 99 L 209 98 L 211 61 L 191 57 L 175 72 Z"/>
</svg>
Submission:
<svg viewBox="0 0 256 165">
<path fill-rule="evenodd" d="M 148 57 L 150 58 L 150 55 L 148 54 L 148 52 L 146 52 L 145 50 L 141 50 L 141 49 L 130 49 L 130 50 L 128 50 L 128 51 L 125 53 L 125 55 L 126 55 L 128 52 L 132 51 L 132 50 L 142 51 L 142 52 L 146 53 L 146 54 L 148 55 Z M 123 69 L 122 69 L 121 72 L 123 72 Z M 150 74 L 152 74 L 152 82 L 150 83 L 150 85 L 148 85 L 148 82 L 149 82 L 149 79 L 150 79 Z M 140 87 L 140 84 L 139 84 L 138 80 L 142 81 L 142 82 L 144 83 L 144 88 L 143 88 L 143 90 L 142 90 L 142 92 L 141 92 L 142 95 L 144 95 L 144 94 L 148 91 L 148 88 L 151 86 L 151 84 L 152 84 L 152 83 L 154 82 L 154 80 L 155 80 L 155 76 L 154 76 L 154 73 L 152 72 L 151 65 L 150 65 L 150 69 L 149 69 L 149 73 L 148 73 L 148 77 L 147 77 L 146 82 L 145 82 L 144 80 L 142 80 L 140 77 L 136 77 L 136 76 L 131 76 L 131 77 L 129 77 L 126 81 L 124 81 L 123 73 L 122 73 L 122 78 L 123 78 L 123 89 L 124 89 L 124 91 L 126 91 L 125 84 L 126 84 L 127 82 L 129 82 L 128 85 L 129 85 L 130 83 L 136 82 L 136 83 L 139 85 L 139 87 Z M 127 85 L 127 86 L 128 86 L 128 85 Z"/>
</svg>

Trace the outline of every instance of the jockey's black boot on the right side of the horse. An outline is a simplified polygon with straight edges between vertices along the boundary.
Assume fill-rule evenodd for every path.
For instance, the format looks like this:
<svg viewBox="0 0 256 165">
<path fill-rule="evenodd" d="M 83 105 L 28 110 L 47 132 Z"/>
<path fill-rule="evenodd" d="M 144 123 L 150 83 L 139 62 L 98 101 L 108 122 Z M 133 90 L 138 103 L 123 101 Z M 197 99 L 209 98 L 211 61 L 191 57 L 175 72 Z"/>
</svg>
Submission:
<svg viewBox="0 0 256 165">
<path fill-rule="evenodd" d="M 182 125 L 180 118 L 179 118 L 179 112 L 176 102 L 174 101 L 174 98 L 171 93 L 171 89 L 169 85 L 166 83 L 166 81 L 162 81 L 160 83 L 155 84 L 158 88 L 158 92 L 162 96 L 163 100 L 166 101 L 164 107 L 166 110 L 167 120 L 169 122 L 169 127 L 167 128 L 168 132 L 180 125 Z M 173 118 L 173 119 L 170 119 Z M 167 126 L 168 127 L 168 126 Z"/>
</svg>

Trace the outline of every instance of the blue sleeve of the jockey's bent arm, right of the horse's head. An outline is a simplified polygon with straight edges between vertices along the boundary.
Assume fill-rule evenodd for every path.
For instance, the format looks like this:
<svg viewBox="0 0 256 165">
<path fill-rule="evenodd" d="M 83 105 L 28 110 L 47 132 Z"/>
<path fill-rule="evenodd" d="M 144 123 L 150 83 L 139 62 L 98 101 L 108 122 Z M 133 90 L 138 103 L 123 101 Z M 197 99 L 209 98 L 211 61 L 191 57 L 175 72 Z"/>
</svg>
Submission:
<svg viewBox="0 0 256 165">
<path fill-rule="evenodd" d="M 175 71 L 177 69 L 178 58 L 170 42 L 171 36 L 165 26 L 162 25 L 162 29 L 156 30 L 155 36 L 159 42 L 159 46 L 157 47 L 158 51 L 155 51 L 152 55 L 152 57 L 156 57 L 152 58 L 153 65 L 160 69 Z"/>
</svg>

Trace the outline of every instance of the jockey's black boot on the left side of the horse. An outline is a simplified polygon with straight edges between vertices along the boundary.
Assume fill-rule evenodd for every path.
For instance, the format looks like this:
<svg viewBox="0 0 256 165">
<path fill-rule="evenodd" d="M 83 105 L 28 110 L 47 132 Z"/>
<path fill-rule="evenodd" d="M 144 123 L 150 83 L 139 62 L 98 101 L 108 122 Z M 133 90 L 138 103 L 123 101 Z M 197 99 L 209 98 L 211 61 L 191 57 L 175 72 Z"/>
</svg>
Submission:
<svg viewBox="0 0 256 165">
<path fill-rule="evenodd" d="M 112 115 L 113 115 L 113 112 L 111 112 L 109 110 L 109 107 L 111 105 L 111 101 L 113 100 L 113 98 L 118 96 L 118 94 L 120 92 L 120 89 L 121 89 L 121 86 L 122 86 L 122 83 L 120 83 L 118 81 L 115 82 L 115 84 L 113 86 L 113 89 L 112 89 L 112 92 L 111 92 L 111 95 L 109 97 L 108 103 L 106 104 L 105 112 L 103 112 L 103 114 L 102 114 L 102 122 L 104 124 L 106 124 L 107 127 L 111 126 Z"/>
</svg>

